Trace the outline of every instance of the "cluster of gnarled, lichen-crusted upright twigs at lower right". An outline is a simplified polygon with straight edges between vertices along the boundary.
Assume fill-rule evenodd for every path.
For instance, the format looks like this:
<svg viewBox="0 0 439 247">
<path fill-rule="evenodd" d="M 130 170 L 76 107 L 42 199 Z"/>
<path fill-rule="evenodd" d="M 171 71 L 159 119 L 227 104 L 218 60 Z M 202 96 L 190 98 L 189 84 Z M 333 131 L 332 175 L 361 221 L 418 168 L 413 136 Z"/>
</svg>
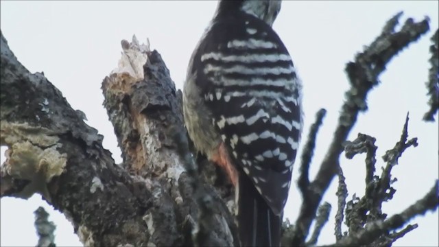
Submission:
<svg viewBox="0 0 439 247">
<path fill-rule="evenodd" d="M 396 143 L 394 148 L 388 150 L 385 156 L 383 156 L 383 160 L 387 162 L 387 165 L 385 169 L 383 169 L 381 177 L 375 176 L 374 174 L 376 161 L 375 153 L 377 150 L 375 138 L 366 134 L 358 134 L 357 139 L 354 141 L 346 141 L 346 157 L 353 158 L 353 156 L 356 154 L 367 152 L 366 169 L 368 169 L 370 172 L 368 172 L 368 175 L 366 176 L 366 193 L 364 194 L 364 197 L 360 199 L 354 194 L 353 199 L 347 203 L 346 225 L 348 226 L 349 231 L 348 235 L 344 236 L 341 235 L 341 222 L 340 217 L 338 217 L 339 212 L 342 211 L 342 207 L 339 207 L 339 212 L 337 212 L 335 217 L 335 236 L 337 238 L 337 245 L 338 243 L 343 243 L 345 241 L 344 239 L 349 239 L 352 236 L 362 234 L 364 228 L 368 228 L 371 224 L 378 224 L 387 217 L 385 213 L 382 213 L 381 206 L 383 202 L 390 200 L 396 191 L 391 187 L 392 183 L 394 183 L 394 180 L 396 180 L 396 178 L 391 180 L 391 169 L 394 165 L 396 165 L 398 158 L 403 154 L 406 148 L 410 147 L 411 145 L 417 145 L 416 138 L 407 141 L 408 121 L 409 117 L 407 113 L 400 140 Z M 370 179 L 368 179 L 368 177 Z M 344 180 L 342 183 L 340 183 L 340 185 L 342 185 L 341 187 L 343 187 L 343 184 Z M 342 190 L 340 189 L 340 185 L 339 191 Z M 347 191 L 346 193 L 339 193 L 339 191 L 337 191 L 337 195 L 339 195 L 340 202 L 340 200 L 342 201 L 346 199 L 346 196 L 344 195 L 346 195 Z M 340 195 L 343 195 L 344 198 L 341 198 L 342 196 Z M 407 224 L 407 222 L 403 224 Z M 405 230 L 399 233 L 390 233 L 393 228 L 383 228 L 381 229 L 381 235 L 368 235 L 369 239 L 367 240 L 367 244 L 372 246 L 391 246 L 396 239 L 403 236 L 405 233 L 412 231 L 416 227 L 417 226 L 407 226 Z"/>
</svg>

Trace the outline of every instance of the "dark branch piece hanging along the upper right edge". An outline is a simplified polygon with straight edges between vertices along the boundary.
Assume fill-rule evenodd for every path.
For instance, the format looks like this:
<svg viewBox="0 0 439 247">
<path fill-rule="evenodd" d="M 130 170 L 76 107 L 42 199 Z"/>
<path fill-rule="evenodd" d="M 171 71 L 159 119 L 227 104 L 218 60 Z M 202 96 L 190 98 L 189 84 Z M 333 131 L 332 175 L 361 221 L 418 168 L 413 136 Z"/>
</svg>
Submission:
<svg viewBox="0 0 439 247">
<path fill-rule="evenodd" d="M 428 101 L 430 108 L 424 115 L 424 121 L 434 121 L 434 115 L 439 109 L 439 29 L 431 36 L 431 43 L 431 58 L 429 59 L 431 67 L 428 72 L 428 82 L 426 83 L 427 95 L 430 97 Z"/>
</svg>

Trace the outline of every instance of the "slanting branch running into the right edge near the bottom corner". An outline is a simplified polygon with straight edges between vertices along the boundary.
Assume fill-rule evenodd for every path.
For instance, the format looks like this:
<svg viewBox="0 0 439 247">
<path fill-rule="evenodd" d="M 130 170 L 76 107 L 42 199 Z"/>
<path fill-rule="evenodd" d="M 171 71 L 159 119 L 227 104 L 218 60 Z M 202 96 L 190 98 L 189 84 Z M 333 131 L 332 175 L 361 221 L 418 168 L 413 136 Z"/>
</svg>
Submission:
<svg viewBox="0 0 439 247">
<path fill-rule="evenodd" d="M 394 229 L 402 227 L 407 224 L 413 217 L 425 214 L 428 210 L 435 211 L 438 209 L 438 187 L 439 181 L 436 180 L 434 186 L 430 191 L 420 200 L 412 204 L 399 214 L 393 215 L 388 220 L 377 220 L 368 224 L 366 228 L 359 231 L 359 233 L 351 234 L 344 237 L 336 244 L 329 246 L 364 246 L 374 242 L 381 235 L 393 231 Z M 407 230 L 408 231 L 408 230 Z"/>
</svg>

